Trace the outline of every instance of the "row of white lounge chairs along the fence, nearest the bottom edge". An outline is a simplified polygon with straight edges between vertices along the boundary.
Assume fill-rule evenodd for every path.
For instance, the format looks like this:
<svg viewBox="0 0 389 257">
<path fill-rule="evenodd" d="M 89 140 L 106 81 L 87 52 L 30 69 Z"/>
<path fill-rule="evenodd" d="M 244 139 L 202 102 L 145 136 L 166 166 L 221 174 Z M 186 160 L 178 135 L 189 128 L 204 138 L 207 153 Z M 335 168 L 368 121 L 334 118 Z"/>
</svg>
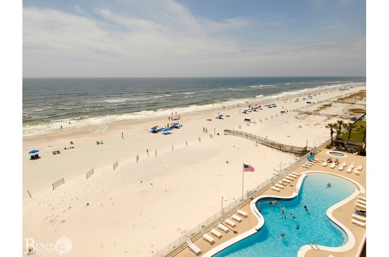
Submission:
<svg viewBox="0 0 389 257">
<path fill-rule="evenodd" d="M 236 215 L 237 214 L 237 215 Z M 231 218 L 237 222 L 240 222 L 242 221 L 242 218 L 239 217 L 238 215 L 242 216 L 242 217 L 246 217 L 248 216 L 247 212 L 241 210 L 241 209 L 238 209 L 236 211 L 236 214 L 232 214 L 231 215 Z M 225 220 L 225 223 L 227 225 L 230 225 L 231 227 L 234 227 L 236 224 L 235 222 L 231 221 L 230 219 L 226 219 Z M 214 235 L 216 238 L 221 238 L 222 237 L 222 233 L 220 233 L 216 227 L 218 227 L 219 229 L 223 230 L 224 232 L 228 232 L 230 230 L 230 228 L 228 228 L 226 225 L 222 224 L 221 222 L 217 222 L 217 225 L 215 227 L 213 227 L 210 232 L 212 233 L 212 235 Z M 209 234 L 207 234 L 206 232 L 201 232 L 201 236 L 204 238 L 204 240 L 208 241 L 209 243 L 212 243 L 214 241 L 214 238 L 212 236 L 210 236 Z M 194 243 L 193 241 L 188 238 L 186 240 L 186 243 L 188 244 L 188 247 L 197 255 L 199 253 L 201 253 L 201 249 L 198 248 Z"/>
</svg>

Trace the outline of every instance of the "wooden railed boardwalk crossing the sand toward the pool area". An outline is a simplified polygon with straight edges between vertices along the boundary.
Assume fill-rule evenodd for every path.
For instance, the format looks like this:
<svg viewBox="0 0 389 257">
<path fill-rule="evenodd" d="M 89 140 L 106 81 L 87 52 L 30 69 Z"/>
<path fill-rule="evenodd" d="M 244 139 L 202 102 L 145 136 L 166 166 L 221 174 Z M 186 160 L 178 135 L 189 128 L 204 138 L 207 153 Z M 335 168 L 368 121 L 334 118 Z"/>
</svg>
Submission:
<svg viewBox="0 0 389 257">
<path fill-rule="evenodd" d="M 313 150 L 311 147 L 300 147 L 300 146 L 293 146 L 293 145 L 283 145 L 281 143 L 277 143 L 272 140 L 268 140 L 267 138 L 263 138 L 254 134 L 246 133 L 243 131 L 239 130 L 229 130 L 225 129 L 224 130 L 225 135 L 232 135 L 232 136 L 238 136 L 238 137 L 243 137 L 246 139 L 249 139 L 251 141 L 255 141 L 257 143 L 260 143 L 262 145 L 266 145 L 271 148 L 275 148 L 284 152 L 288 153 L 294 153 L 294 154 L 306 154 L 310 151 Z"/>
</svg>

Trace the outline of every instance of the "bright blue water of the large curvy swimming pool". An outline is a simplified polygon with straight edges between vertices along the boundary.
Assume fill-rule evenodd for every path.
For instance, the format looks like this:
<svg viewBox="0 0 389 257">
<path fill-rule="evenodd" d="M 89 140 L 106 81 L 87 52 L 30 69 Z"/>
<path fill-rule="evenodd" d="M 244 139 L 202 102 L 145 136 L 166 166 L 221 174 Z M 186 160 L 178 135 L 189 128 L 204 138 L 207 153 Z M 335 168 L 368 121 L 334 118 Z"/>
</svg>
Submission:
<svg viewBox="0 0 389 257">
<path fill-rule="evenodd" d="M 326 187 L 328 183 L 331 183 L 330 188 Z M 350 196 L 356 189 L 353 183 L 340 177 L 309 174 L 304 178 L 300 193 L 295 199 L 259 200 L 256 205 L 265 218 L 262 229 L 214 257 L 296 257 L 301 246 L 309 241 L 329 247 L 341 246 L 348 241 L 347 235 L 330 221 L 326 211 Z M 274 204 L 275 199 L 278 199 L 279 206 Z M 269 201 L 273 202 L 272 206 Z M 284 208 L 284 214 L 281 213 L 281 208 Z M 293 219 L 290 213 L 296 219 Z M 299 230 L 296 229 L 297 225 L 300 226 Z M 280 237 L 280 232 L 285 234 L 284 238 Z"/>
</svg>

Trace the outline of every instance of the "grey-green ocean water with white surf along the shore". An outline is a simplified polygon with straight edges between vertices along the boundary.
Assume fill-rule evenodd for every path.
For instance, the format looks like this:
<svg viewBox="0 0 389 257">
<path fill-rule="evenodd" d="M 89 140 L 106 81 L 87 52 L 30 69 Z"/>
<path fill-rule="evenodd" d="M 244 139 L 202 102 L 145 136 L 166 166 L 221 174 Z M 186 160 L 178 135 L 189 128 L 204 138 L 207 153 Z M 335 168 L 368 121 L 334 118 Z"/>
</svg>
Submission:
<svg viewBox="0 0 389 257">
<path fill-rule="evenodd" d="M 23 136 L 366 83 L 366 77 L 24 78 Z M 71 122 L 71 124 L 69 124 Z M 69 125 L 69 126 L 68 126 Z"/>
</svg>

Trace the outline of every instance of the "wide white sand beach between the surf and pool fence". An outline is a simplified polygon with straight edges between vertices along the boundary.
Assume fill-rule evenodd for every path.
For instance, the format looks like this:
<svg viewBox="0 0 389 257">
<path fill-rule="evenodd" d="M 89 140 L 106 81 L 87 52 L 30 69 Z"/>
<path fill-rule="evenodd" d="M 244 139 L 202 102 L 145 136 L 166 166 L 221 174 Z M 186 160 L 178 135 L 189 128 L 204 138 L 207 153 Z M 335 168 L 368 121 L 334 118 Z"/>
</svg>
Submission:
<svg viewBox="0 0 389 257">
<path fill-rule="evenodd" d="M 366 86 L 307 94 L 315 95 L 312 102 L 318 102 L 360 90 L 366 90 Z M 67 256 L 151 255 L 220 210 L 222 196 L 229 199 L 225 202 L 229 204 L 242 195 L 243 162 L 255 168 L 255 172 L 245 173 L 246 193 L 278 172 L 281 161 L 287 166 L 299 158 L 224 135 L 224 129 L 301 147 L 313 147 L 329 139 L 330 131 L 325 126 L 339 118 L 291 112 L 299 107 L 314 111 L 326 103 L 306 108 L 306 101 L 295 102 L 296 97 L 304 96 L 271 102 L 250 98 L 248 104 L 260 104 L 263 110 L 247 114 L 241 113 L 248 108 L 245 103 L 240 107 L 177 113 L 182 127 L 169 134 L 149 132 L 156 125 L 172 122 L 163 116 L 85 128 L 64 127 L 23 137 L 23 251 L 25 238 L 55 243 L 67 237 L 72 242 Z M 268 103 L 278 107 L 266 108 Z M 352 108 L 352 104 L 334 103 L 321 113 L 344 115 L 345 108 Z M 283 110 L 288 112 L 280 115 Z M 215 118 L 218 113 L 224 115 L 223 119 Z M 256 124 L 245 123 L 244 118 Z M 96 141 L 104 144 L 96 145 Z M 74 148 L 64 150 L 70 146 Z M 39 149 L 40 159 L 30 160 L 28 152 L 32 149 Z M 60 154 L 53 155 L 56 150 Z M 114 170 L 116 161 L 119 166 Z M 91 169 L 94 174 L 87 179 Z M 65 183 L 53 190 L 53 182 L 61 178 Z"/>
</svg>

